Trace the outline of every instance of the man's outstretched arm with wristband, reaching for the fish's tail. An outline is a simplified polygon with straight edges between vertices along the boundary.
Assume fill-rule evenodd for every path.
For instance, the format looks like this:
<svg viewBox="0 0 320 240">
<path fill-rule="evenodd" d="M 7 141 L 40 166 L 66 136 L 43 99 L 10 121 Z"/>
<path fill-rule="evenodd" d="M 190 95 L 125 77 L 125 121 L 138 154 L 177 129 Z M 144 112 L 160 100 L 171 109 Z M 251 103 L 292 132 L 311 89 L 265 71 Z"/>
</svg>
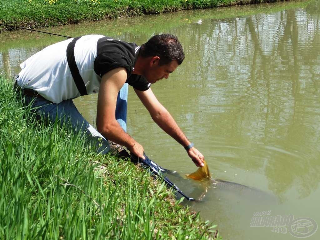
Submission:
<svg viewBox="0 0 320 240">
<path fill-rule="evenodd" d="M 151 88 L 149 88 L 147 91 L 139 91 L 135 89 L 135 92 L 143 105 L 148 109 L 153 121 L 155 121 L 155 123 L 158 124 L 159 127 L 164 130 L 164 132 L 168 133 L 183 147 L 186 147 L 190 144 L 190 141 L 181 131 L 171 114 L 157 100 L 156 96 L 151 91 Z M 204 166 L 204 156 L 195 147 L 188 149 L 187 152 L 196 166 Z"/>
</svg>

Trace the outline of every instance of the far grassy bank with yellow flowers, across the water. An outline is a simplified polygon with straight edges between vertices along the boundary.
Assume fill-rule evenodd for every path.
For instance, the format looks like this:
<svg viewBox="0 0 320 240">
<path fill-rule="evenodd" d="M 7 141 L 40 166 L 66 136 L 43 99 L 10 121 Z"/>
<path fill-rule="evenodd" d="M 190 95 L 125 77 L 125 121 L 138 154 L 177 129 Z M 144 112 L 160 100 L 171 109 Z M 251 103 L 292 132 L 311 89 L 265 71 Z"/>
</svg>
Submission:
<svg viewBox="0 0 320 240">
<path fill-rule="evenodd" d="M 285 0 L 2 0 L 0 23 L 27 28 Z M 0 26 L 0 31 L 13 30 Z M 15 30 L 15 29 L 14 29 Z"/>
</svg>

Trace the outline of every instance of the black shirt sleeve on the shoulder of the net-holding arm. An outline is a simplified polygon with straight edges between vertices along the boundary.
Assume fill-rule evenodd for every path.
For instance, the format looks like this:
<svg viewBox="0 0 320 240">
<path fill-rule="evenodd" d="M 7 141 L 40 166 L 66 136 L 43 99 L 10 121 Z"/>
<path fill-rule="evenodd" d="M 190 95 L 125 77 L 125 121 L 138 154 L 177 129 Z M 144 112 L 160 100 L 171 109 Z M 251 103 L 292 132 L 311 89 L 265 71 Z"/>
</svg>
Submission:
<svg viewBox="0 0 320 240">
<path fill-rule="evenodd" d="M 125 68 L 127 75 L 132 73 L 132 62 L 128 57 L 116 52 L 103 52 L 94 60 L 94 71 L 97 75 L 103 76 L 115 68 Z"/>
</svg>

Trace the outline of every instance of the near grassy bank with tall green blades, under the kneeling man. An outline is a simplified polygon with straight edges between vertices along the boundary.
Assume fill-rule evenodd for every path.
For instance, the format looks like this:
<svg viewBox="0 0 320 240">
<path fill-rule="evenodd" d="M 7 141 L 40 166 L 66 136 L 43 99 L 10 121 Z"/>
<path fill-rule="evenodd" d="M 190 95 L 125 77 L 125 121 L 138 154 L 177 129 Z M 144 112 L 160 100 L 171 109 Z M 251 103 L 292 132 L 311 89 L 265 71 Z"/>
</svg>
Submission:
<svg viewBox="0 0 320 240">
<path fill-rule="evenodd" d="M 30 118 L 0 76 L 0 239 L 209 239 L 208 223 L 123 160 Z"/>
</svg>

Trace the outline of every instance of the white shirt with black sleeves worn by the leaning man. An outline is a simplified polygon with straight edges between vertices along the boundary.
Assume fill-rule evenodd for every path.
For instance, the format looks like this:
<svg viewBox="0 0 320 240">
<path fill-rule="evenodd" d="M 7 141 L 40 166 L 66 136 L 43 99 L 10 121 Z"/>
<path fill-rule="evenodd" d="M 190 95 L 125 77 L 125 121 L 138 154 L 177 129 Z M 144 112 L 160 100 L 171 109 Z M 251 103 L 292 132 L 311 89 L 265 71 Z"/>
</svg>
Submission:
<svg viewBox="0 0 320 240">
<path fill-rule="evenodd" d="M 73 40 L 52 44 L 21 63 L 18 85 L 32 89 L 55 103 L 79 97 L 81 94 L 67 60 L 67 47 Z M 150 87 L 148 81 L 143 76 L 132 74 L 138 50 L 136 44 L 102 35 L 78 38 L 74 45 L 74 60 L 86 94 L 99 92 L 101 76 L 118 67 L 127 70 L 128 84 L 141 91 L 147 90 Z"/>
</svg>

